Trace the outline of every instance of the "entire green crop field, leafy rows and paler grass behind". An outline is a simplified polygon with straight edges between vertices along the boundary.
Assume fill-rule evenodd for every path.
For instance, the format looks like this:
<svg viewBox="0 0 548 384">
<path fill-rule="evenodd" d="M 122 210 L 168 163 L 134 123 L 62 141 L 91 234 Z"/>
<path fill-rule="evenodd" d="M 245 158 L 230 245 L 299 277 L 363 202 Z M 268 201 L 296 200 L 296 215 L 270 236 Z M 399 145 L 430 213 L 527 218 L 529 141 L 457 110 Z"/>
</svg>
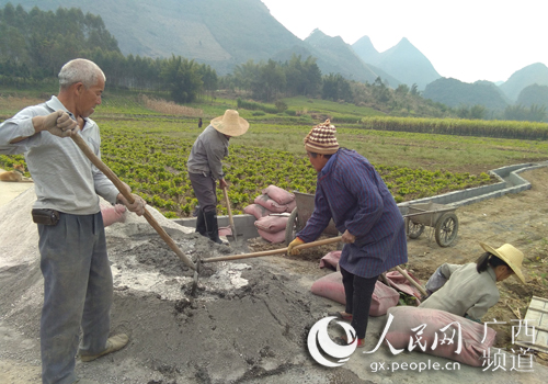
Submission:
<svg viewBox="0 0 548 384">
<path fill-rule="evenodd" d="M 2 118 L 25 103 L 21 98 L 3 100 Z M 31 100 L 34 101 L 26 101 Z M 398 121 L 398 129 L 387 129 L 383 123 L 395 124 L 393 120 L 370 117 L 374 113 L 365 108 L 306 98 L 284 101 L 289 110 L 299 111 L 299 116 L 254 115 L 256 111 L 240 110 L 241 116 L 249 118 L 250 129 L 230 140 L 230 156 L 224 162 L 235 214 L 253 203 L 270 184 L 288 191 L 315 192 L 316 172 L 306 157 L 302 139 L 313 124 L 326 117 L 336 126 L 341 146 L 355 149 L 375 165 L 397 202 L 491 183 L 494 180 L 486 173 L 488 170 L 545 160 L 548 155 L 548 142 L 544 139 L 414 133 L 421 132 L 421 125 L 412 120 L 408 121 L 414 132 L 401 132 L 402 121 Z M 218 98 L 189 106 L 203 112 L 204 128 L 210 118 L 236 108 L 236 101 Z M 153 111 L 133 92 L 111 92 L 93 118 L 102 131 L 103 161 L 135 193 L 168 217 L 192 214 L 197 201 L 187 179 L 186 159 L 203 129 L 197 127 L 197 117 Z M 370 123 L 364 126 L 369 118 L 377 121 L 379 129 Z M 484 123 L 487 131 L 496 131 L 492 122 Z M 479 126 L 481 122 L 473 124 Z M 24 162 L 24 157 L 0 155 L 0 167 L 9 169 L 14 162 Z M 218 213 L 226 214 L 220 191 L 218 201 Z"/>
</svg>

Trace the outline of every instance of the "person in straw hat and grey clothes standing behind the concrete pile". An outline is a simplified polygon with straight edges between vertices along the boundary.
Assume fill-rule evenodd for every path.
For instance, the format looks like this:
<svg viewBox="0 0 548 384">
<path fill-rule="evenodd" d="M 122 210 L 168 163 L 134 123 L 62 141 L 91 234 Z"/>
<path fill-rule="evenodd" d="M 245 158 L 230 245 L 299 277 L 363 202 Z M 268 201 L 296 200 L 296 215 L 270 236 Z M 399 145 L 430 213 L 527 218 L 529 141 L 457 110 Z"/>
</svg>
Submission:
<svg viewBox="0 0 548 384">
<path fill-rule="evenodd" d="M 238 111 L 227 110 L 222 116 L 215 117 L 199 134 L 192 146 L 186 167 L 199 210 L 196 217 L 196 231 L 222 244 L 217 224 L 217 190 L 228 187 L 222 173 L 221 160 L 228 156 L 230 137 L 243 135 L 249 123 L 240 117 Z"/>
</svg>

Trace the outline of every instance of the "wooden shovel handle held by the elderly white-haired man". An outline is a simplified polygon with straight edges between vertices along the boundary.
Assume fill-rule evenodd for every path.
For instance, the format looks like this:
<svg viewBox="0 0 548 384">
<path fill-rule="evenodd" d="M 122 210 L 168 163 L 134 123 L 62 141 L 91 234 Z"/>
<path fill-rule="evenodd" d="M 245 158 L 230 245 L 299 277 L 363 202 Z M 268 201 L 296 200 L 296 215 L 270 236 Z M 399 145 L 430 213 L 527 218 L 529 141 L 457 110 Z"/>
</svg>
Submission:
<svg viewBox="0 0 548 384">
<path fill-rule="evenodd" d="M 134 197 L 132 193 L 127 190 L 126 185 L 122 182 L 122 180 L 118 179 L 118 177 L 103 162 L 99 157 L 93 154 L 93 151 L 88 147 L 85 142 L 80 135 L 72 135 L 70 136 L 72 140 L 80 147 L 82 153 L 90 159 L 90 161 L 98 167 L 98 169 L 103 172 L 113 183 L 114 185 L 118 189 L 118 191 L 126 197 L 126 200 L 129 203 L 134 202 Z M 196 266 L 192 262 L 192 260 L 183 253 L 181 249 L 176 246 L 175 241 L 168 235 L 168 233 L 158 224 L 156 218 L 150 214 L 150 212 L 145 208 L 145 218 L 147 222 L 156 229 L 158 235 L 165 241 L 165 244 L 175 252 L 176 256 L 191 269 L 196 271 Z"/>
</svg>

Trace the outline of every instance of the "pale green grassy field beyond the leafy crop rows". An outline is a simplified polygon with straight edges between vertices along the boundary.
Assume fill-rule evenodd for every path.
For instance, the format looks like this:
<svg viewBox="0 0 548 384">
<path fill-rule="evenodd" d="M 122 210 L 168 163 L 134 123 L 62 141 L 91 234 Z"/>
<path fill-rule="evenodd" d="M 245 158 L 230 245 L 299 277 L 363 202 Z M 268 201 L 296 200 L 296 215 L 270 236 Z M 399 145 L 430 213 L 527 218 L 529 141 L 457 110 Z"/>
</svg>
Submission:
<svg viewBox="0 0 548 384">
<path fill-rule="evenodd" d="M 127 118 L 123 105 L 133 105 L 133 115 L 157 116 L 162 125 L 138 122 L 138 131 L 165 134 L 174 138 L 194 140 L 199 134 L 197 118 L 182 115 L 164 115 L 144 108 L 134 93 L 118 94 L 115 101 L 99 106 L 93 118 Z M 305 111 L 300 120 L 284 114 L 253 116 L 253 111 L 240 110 L 240 115 L 250 121 L 250 129 L 232 139 L 232 145 L 279 149 L 304 155 L 302 139 L 310 128 L 324 117 L 331 117 L 336 126 L 341 146 L 355 149 L 375 163 L 387 166 L 449 170 L 480 173 L 509 163 L 544 159 L 548 155 L 548 143 L 540 140 L 500 139 L 454 135 L 415 134 L 359 128 L 359 124 L 338 123 L 336 115 L 355 114 L 356 118 L 372 115 L 370 109 L 345 103 L 307 98 L 284 99 L 288 108 Z M 118 106 L 121 104 L 121 106 Z M 226 109 L 235 109 L 236 101 L 217 98 L 215 102 L 194 103 L 189 106 L 204 111 L 204 124 L 222 115 Z M 312 116 L 317 117 L 313 118 Z M 318 118 L 321 116 L 321 118 Z M 172 124 L 168 124 L 171 122 Z M 204 125 L 205 126 L 205 125 Z"/>
</svg>

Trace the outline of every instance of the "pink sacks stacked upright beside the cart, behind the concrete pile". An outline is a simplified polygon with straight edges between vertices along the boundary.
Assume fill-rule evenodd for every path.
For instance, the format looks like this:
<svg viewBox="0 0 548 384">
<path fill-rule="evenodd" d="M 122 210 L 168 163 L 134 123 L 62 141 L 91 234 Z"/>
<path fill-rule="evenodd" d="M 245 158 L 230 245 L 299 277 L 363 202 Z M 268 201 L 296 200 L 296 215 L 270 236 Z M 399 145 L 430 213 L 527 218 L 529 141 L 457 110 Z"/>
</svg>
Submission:
<svg viewBox="0 0 548 384">
<path fill-rule="evenodd" d="M 253 203 L 243 208 L 243 212 L 255 216 L 259 235 L 273 244 L 284 242 L 285 227 L 289 219 L 287 214 L 297 206 L 295 195 L 276 185 L 269 185 Z"/>
</svg>

